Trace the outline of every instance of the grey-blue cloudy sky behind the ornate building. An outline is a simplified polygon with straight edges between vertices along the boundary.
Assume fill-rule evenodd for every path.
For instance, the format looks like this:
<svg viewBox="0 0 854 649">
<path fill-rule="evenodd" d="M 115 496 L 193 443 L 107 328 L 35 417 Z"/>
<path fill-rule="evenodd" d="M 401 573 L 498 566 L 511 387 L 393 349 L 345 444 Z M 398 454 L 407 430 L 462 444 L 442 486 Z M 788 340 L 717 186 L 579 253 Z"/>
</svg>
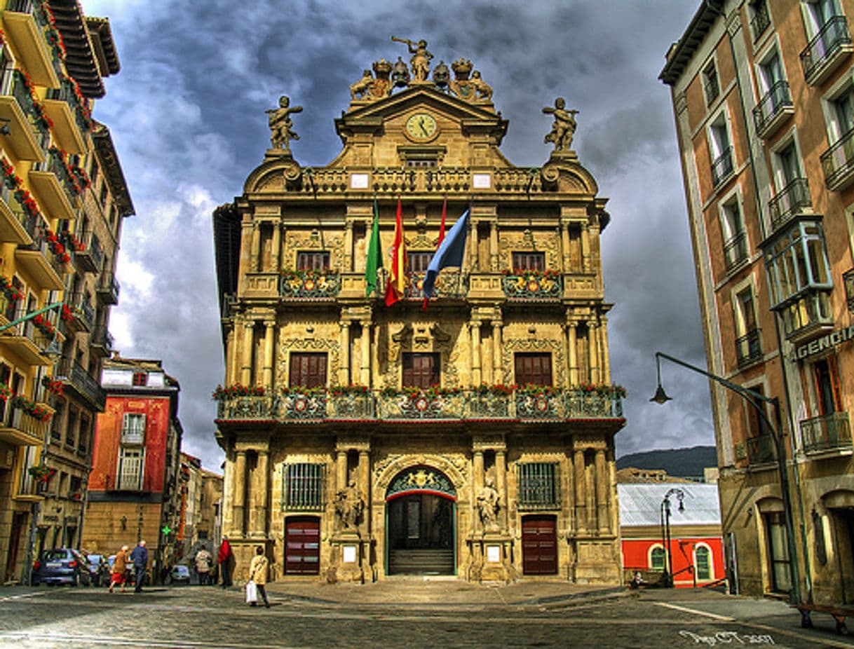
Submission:
<svg viewBox="0 0 854 649">
<path fill-rule="evenodd" d="M 295 115 L 295 159 L 322 166 L 341 148 L 333 120 L 372 61 L 428 41 L 434 64 L 471 59 L 510 120 L 502 145 L 539 166 L 551 145 L 541 108 L 581 111 L 574 145 L 610 198 L 602 237 L 614 383 L 629 390 L 617 454 L 712 444 L 703 377 L 664 366 L 675 401 L 650 403 L 656 350 L 705 366 L 664 52 L 699 0 L 80 0 L 110 19 L 121 72 L 95 117 L 110 128 L 137 214 L 118 264 L 115 348 L 162 359 L 181 383 L 184 449 L 216 469 L 210 393 L 223 381 L 211 213 L 230 202 L 269 146 L 266 108 Z"/>
</svg>

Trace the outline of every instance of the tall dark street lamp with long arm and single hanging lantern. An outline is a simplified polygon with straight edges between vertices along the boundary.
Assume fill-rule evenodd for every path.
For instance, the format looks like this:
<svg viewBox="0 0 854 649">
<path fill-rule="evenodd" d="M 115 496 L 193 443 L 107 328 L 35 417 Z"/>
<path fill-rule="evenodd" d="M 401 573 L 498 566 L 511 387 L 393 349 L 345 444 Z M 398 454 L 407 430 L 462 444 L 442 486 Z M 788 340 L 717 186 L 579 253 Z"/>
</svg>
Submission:
<svg viewBox="0 0 854 649">
<path fill-rule="evenodd" d="M 712 374 L 711 372 L 705 371 L 695 365 L 690 365 L 684 360 L 676 359 L 673 356 L 669 356 L 668 354 L 664 354 L 662 352 L 656 352 L 655 362 L 658 368 L 658 387 L 655 390 L 655 395 L 652 396 L 652 399 L 650 399 L 650 401 L 655 401 L 658 404 L 663 405 L 667 401 L 671 401 L 671 397 L 668 396 L 666 392 L 664 392 L 664 388 L 661 385 L 662 359 L 670 360 L 676 363 L 676 365 L 681 365 L 682 367 L 685 367 L 688 370 L 696 371 L 699 374 L 702 374 L 703 376 L 709 377 L 713 381 L 720 383 L 724 388 L 731 389 L 733 392 L 743 397 L 744 400 L 752 406 L 752 408 L 757 412 L 758 417 L 762 420 L 763 424 L 768 427 L 768 430 L 771 433 L 771 437 L 774 440 L 777 455 L 777 470 L 780 472 L 780 490 L 783 500 L 783 517 L 785 518 L 786 523 L 786 541 L 789 553 L 789 578 L 792 581 L 792 588 L 789 590 L 789 600 L 792 604 L 799 604 L 800 584 L 798 582 L 798 555 L 795 553 L 795 530 L 792 517 L 792 500 L 789 496 L 789 479 L 786 470 L 786 447 L 783 444 L 783 434 L 781 430 L 780 400 L 777 399 L 777 397 L 767 397 L 752 389 L 744 388 L 738 383 L 732 383 L 731 381 L 728 381 L 723 377 L 718 377 L 717 374 Z M 771 404 L 771 406 L 774 406 L 774 418 L 776 425 L 771 424 L 768 415 L 765 413 L 765 409 L 763 408 L 763 406 L 759 405 L 760 402 L 769 403 Z M 797 468 L 795 469 L 795 471 L 797 471 Z"/>
</svg>

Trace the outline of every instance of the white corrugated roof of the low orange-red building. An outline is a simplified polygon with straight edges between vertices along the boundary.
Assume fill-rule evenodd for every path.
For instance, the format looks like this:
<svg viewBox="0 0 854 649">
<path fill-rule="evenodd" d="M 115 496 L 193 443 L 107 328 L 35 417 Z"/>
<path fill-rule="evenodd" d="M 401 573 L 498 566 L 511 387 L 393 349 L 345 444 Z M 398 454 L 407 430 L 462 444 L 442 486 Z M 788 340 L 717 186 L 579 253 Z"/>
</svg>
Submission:
<svg viewBox="0 0 854 649">
<path fill-rule="evenodd" d="M 679 511 L 679 499 L 670 495 L 670 525 L 720 525 L 721 504 L 717 484 L 694 482 L 656 482 L 655 484 L 617 484 L 620 499 L 620 527 L 661 524 L 661 503 L 671 488 L 685 494 Z"/>
</svg>

